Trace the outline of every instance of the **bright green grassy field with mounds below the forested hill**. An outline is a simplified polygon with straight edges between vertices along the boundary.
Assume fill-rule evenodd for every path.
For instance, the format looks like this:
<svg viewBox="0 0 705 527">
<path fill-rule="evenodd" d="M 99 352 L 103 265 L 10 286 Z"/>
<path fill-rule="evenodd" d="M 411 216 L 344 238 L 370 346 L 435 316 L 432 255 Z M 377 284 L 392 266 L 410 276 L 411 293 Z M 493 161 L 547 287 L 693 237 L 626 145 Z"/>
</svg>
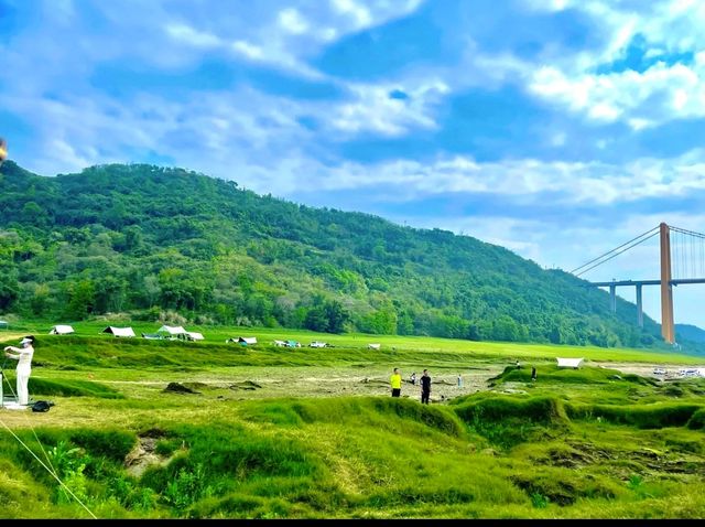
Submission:
<svg viewBox="0 0 705 527">
<path fill-rule="evenodd" d="M 694 357 L 191 326 L 206 340 L 183 343 L 115 338 L 107 325 L 0 332 L 3 345 L 37 337 L 30 392 L 55 404 L 0 409 L 0 517 L 705 515 L 705 380 L 632 373 Z M 556 356 L 586 361 L 558 369 Z M 409 383 L 389 397 L 394 366 L 431 370 L 432 405 Z"/>
</svg>

